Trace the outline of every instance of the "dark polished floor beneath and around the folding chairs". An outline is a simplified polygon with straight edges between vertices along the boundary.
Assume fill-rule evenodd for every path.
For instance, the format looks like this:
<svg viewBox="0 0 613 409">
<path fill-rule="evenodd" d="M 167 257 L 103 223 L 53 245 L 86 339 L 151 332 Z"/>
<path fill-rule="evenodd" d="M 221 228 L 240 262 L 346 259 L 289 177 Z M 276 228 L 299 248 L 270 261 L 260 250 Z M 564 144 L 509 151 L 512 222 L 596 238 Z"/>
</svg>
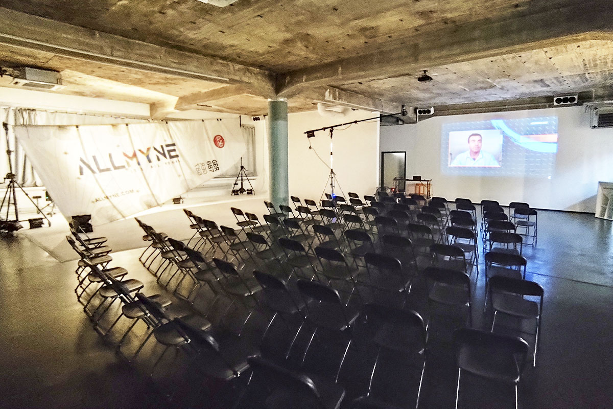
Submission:
<svg viewBox="0 0 613 409">
<path fill-rule="evenodd" d="M 525 248 L 524 255 L 528 259 L 527 279 L 545 289 L 542 338 L 536 367 L 528 366 L 524 372 L 519 406 L 611 408 L 611 222 L 588 214 L 542 211 L 538 240 L 538 246 Z M 139 250 L 113 254 L 113 265 L 126 267 L 130 277 L 142 280 L 145 293 L 164 292 L 138 262 L 139 254 Z M 7 235 L 0 240 L 0 408 L 226 407 L 220 403 L 223 399 L 211 401 L 207 397 L 167 403 L 164 387 L 172 381 L 164 380 L 164 375 L 162 380 L 153 377 L 150 381 L 146 365 L 134 367 L 121 360 L 113 340 L 93 331 L 75 298 L 75 263 L 57 262 L 22 237 Z M 475 305 L 482 305 L 482 275 L 474 287 Z M 179 300 L 175 304 L 185 312 L 199 311 L 197 303 L 191 311 Z M 491 317 L 477 307 L 473 320 L 475 327 L 487 328 Z M 457 372 L 445 331 L 432 329 L 433 334 L 436 331 L 440 336 L 432 338 L 420 404 L 423 408 L 454 406 Z M 520 335 L 533 345 L 531 335 Z M 279 339 L 274 335 L 267 338 L 268 345 L 264 342 L 262 351 L 274 357 L 281 349 L 276 345 Z M 333 350 L 313 345 L 305 364 L 325 371 L 337 359 Z M 143 361 L 147 361 L 146 355 Z M 364 394 L 372 359 L 371 351 L 359 343 L 352 346 L 340 377 L 348 392 L 346 402 Z M 388 357 L 378 367 L 378 374 L 373 396 L 413 407 L 414 370 L 402 360 Z M 181 376 L 177 382 L 194 382 L 185 374 Z M 199 380 L 194 384 L 199 385 Z M 462 385 L 460 407 L 513 407 L 512 389 L 468 377 Z M 173 388 L 181 389 L 177 385 Z M 208 384 L 207 388 L 230 397 L 238 393 L 238 389 L 226 391 L 219 385 Z"/>
</svg>

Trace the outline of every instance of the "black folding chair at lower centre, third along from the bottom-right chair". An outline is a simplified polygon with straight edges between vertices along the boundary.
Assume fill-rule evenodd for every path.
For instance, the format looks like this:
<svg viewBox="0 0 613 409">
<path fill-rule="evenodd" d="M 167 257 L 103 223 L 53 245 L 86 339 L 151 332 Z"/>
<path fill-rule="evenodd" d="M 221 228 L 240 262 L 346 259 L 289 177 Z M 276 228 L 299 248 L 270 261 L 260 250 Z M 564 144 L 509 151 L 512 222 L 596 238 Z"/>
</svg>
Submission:
<svg viewBox="0 0 613 409">
<path fill-rule="evenodd" d="M 348 338 L 345 353 L 343 353 L 341 362 L 338 365 L 337 375 L 335 377 L 335 382 L 337 382 L 343 363 L 345 362 L 345 357 L 347 356 L 347 351 L 349 350 L 349 346 L 351 346 L 351 330 L 359 315 L 359 311 L 355 304 L 343 303 L 338 291 L 323 283 L 301 279 L 298 280 L 297 285 L 300 294 L 302 294 L 305 300 L 305 305 L 307 306 L 306 322 L 313 329 L 311 339 L 302 355 L 302 363 L 305 362 L 313 339 L 318 331 L 332 333 L 335 339 L 337 339 L 338 335 Z M 302 326 L 300 329 L 302 329 Z M 293 342 L 290 349 L 292 346 Z"/>
</svg>

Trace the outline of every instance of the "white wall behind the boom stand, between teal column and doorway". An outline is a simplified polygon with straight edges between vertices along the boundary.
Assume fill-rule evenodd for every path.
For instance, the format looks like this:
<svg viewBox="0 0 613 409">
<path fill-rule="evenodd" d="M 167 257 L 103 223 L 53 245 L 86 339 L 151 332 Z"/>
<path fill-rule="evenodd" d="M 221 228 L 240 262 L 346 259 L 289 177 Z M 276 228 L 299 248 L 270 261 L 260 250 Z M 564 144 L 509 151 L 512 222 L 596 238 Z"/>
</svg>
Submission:
<svg viewBox="0 0 613 409">
<path fill-rule="evenodd" d="M 310 140 L 304 134 L 305 131 L 377 115 L 378 113 L 361 110 L 350 111 L 345 117 L 322 117 L 316 111 L 289 114 L 289 194 L 300 199 L 318 201 L 324 189 L 326 193 L 330 193 L 327 183 L 330 175 L 329 131 L 315 132 L 315 137 Z M 340 129 L 333 132 L 333 168 L 338 184 L 345 195 L 348 192 L 360 196 L 373 194 L 378 185 L 379 121 L 352 124 L 348 128 L 345 126 Z M 309 142 L 314 150 L 309 149 Z M 325 164 L 318 159 L 315 151 Z M 338 186 L 335 188 L 335 194 L 341 194 Z"/>
</svg>

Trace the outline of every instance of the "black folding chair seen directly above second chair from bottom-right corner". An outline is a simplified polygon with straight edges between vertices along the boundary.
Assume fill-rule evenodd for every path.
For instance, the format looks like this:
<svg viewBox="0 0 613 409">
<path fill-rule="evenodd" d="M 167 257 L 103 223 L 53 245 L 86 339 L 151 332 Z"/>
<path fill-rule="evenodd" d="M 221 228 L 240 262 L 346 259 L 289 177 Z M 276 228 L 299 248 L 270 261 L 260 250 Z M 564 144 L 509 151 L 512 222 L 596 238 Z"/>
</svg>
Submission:
<svg viewBox="0 0 613 409">
<path fill-rule="evenodd" d="M 397 258 L 384 254 L 366 253 L 367 275 L 363 281 L 370 288 L 375 304 L 387 305 L 393 294 L 403 296 L 401 308 L 409 300 L 409 292 L 413 286 L 413 274 L 407 273 Z M 386 302 L 377 302 L 377 294 L 385 294 Z"/>
</svg>

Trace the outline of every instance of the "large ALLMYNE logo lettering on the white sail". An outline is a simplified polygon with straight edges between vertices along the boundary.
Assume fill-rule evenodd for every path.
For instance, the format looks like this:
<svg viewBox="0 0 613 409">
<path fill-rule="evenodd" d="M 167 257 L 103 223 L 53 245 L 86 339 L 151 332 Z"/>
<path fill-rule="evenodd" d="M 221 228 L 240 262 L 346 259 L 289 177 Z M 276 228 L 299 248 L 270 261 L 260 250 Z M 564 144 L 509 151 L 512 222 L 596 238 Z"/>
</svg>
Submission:
<svg viewBox="0 0 613 409">
<path fill-rule="evenodd" d="M 157 147 L 147 147 L 147 149 L 137 149 L 131 153 L 121 152 L 112 153 L 108 155 L 92 155 L 84 159 L 79 158 L 79 174 L 83 175 L 85 169 L 93 174 L 100 174 L 104 172 L 112 172 L 113 170 L 130 169 L 135 166 L 142 166 L 142 164 L 156 164 L 161 161 L 170 161 L 174 163 L 173 159 L 178 159 L 177 148 L 175 143 L 166 143 L 166 145 L 160 145 Z"/>
</svg>

